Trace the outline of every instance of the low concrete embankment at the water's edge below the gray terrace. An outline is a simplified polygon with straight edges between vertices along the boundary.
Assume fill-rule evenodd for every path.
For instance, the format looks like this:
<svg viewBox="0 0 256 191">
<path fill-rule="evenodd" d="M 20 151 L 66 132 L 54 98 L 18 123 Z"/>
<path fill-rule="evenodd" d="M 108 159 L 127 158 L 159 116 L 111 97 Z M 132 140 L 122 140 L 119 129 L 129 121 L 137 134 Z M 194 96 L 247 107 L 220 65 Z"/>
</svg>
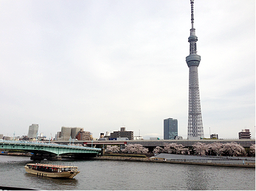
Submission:
<svg viewBox="0 0 256 191">
<path fill-rule="evenodd" d="M 139 158 L 127 156 L 99 156 L 93 159 L 99 160 L 114 160 L 114 161 L 135 161 L 135 162 L 160 162 L 172 164 L 191 164 L 191 165 L 210 165 L 221 167 L 242 167 L 242 168 L 255 168 L 255 163 L 245 162 L 245 164 L 236 164 L 232 162 L 214 162 L 214 161 L 186 161 L 181 159 L 164 159 L 164 158 Z"/>
</svg>

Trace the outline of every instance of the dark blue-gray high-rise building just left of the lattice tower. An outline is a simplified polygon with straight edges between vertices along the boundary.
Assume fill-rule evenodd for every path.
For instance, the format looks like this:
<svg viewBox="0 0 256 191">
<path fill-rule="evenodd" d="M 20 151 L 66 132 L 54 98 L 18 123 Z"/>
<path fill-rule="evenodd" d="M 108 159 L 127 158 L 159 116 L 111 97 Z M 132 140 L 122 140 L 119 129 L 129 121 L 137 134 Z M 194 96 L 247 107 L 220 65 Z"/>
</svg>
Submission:
<svg viewBox="0 0 256 191">
<path fill-rule="evenodd" d="M 167 118 L 164 120 L 164 139 L 175 139 L 178 136 L 178 120 Z"/>
</svg>

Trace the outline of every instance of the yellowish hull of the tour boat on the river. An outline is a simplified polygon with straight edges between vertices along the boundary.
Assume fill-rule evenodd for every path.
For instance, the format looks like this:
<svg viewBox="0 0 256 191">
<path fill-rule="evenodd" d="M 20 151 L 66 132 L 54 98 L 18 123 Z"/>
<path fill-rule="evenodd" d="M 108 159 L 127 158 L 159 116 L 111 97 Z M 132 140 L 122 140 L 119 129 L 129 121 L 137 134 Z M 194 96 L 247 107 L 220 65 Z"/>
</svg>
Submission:
<svg viewBox="0 0 256 191">
<path fill-rule="evenodd" d="M 65 171 L 61 173 L 49 173 L 45 171 L 33 170 L 27 166 L 25 166 L 25 170 L 29 174 L 35 174 L 36 176 L 44 176 L 44 177 L 49 177 L 54 179 L 73 179 L 74 176 L 80 173 L 80 171 L 76 171 L 76 172 Z"/>
</svg>

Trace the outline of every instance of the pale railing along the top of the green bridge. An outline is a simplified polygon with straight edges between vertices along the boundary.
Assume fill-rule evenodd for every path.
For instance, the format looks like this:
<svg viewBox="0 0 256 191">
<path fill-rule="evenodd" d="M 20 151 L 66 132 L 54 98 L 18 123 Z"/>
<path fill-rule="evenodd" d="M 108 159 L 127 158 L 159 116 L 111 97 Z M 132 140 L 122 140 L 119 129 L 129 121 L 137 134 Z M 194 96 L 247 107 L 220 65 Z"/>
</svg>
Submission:
<svg viewBox="0 0 256 191">
<path fill-rule="evenodd" d="M 0 140 L 0 143 L 15 143 L 15 144 L 26 144 L 26 145 L 43 145 L 43 146 L 58 146 L 62 148 L 79 148 L 79 149 L 87 149 L 93 151 L 100 151 L 99 148 L 91 148 L 86 146 L 79 145 L 61 145 L 57 143 L 46 143 L 46 142 L 33 142 L 33 141 L 25 141 L 25 140 Z"/>
</svg>

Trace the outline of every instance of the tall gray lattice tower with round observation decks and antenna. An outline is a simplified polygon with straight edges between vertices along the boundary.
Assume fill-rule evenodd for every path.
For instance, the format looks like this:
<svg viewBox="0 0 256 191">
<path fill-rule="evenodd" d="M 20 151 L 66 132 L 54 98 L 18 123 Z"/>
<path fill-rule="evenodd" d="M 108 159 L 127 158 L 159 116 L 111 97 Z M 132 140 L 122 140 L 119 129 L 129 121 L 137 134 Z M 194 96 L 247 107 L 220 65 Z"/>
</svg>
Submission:
<svg viewBox="0 0 256 191">
<path fill-rule="evenodd" d="M 201 57 L 196 54 L 196 41 L 198 38 L 195 35 L 195 29 L 193 28 L 193 2 L 194 0 L 191 0 L 192 29 L 188 40 L 189 56 L 186 57 L 186 62 L 189 67 L 188 139 L 191 140 L 204 138 L 198 83 L 198 65 L 201 61 Z"/>
</svg>

